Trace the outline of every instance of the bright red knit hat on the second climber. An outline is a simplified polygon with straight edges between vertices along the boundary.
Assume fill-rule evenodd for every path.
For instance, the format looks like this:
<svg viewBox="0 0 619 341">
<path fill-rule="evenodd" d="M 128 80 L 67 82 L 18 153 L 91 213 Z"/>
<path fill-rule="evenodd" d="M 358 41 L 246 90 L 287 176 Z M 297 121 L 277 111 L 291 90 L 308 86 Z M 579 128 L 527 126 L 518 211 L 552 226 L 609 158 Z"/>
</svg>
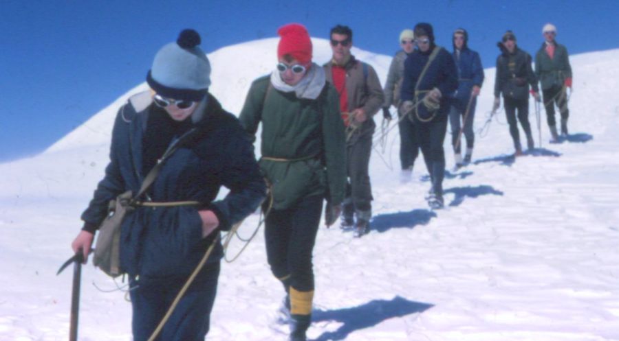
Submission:
<svg viewBox="0 0 619 341">
<path fill-rule="evenodd" d="M 283 25 L 277 34 L 281 36 L 277 45 L 277 58 L 290 54 L 303 64 L 312 61 L 312 40 L 305 26 L 296 23 Z"/>
</svg>

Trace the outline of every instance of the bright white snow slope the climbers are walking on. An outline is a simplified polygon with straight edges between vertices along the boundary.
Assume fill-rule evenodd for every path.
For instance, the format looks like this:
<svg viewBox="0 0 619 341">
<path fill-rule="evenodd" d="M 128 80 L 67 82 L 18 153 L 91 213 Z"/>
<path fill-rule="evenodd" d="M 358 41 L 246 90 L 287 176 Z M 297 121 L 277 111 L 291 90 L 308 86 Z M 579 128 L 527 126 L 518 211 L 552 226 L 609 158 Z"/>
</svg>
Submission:
<svg viewBox="0 0 619 341">
<path fill-rule="evenodd" d="M 274 66 L 275 47 L 276 39 L 257 40 L 208 55 L 211 90 L 225 108 L 238 113 L 250 82 Z M 329 59 L 327 40 L 314 39 L 314 47 L 316 62 Z M 389 56 L 354 54 L 384 82 Z M 619 340 L 619 50 L 571 61 L 568 141 L 548 144 L 542 117 L 542 147 L 514 160 L 506 119 L 497 115 L 477 134 L 474 164 L 446 177 L 444 210 L 424 202 L 421 158 L 415 181 L 398 182 L 397 128 L 384 153 L 376 146 L 373 230 L 360 239 L 338 228 L 318 233 L 312 340 Z M 492 105 L 494 74 L 486 69 L 476 130 Z M 144 86 L 43 154 L 0 164 L 0 340 L 67 338 L 71 272 L 56 270 L 102 176 L 116 110 Z M 241 235 L 257 221 L 250 216 Z M 230 257 L 241 246 L 235 239 Z M 131 340 L 124 292 L 91 266 L 82 285 L 80 340 Z M 282 296 L 259 233 L 224 263 L 206 340 L 285 340 L 285 327 L 274 323 Z"/>
</svg>

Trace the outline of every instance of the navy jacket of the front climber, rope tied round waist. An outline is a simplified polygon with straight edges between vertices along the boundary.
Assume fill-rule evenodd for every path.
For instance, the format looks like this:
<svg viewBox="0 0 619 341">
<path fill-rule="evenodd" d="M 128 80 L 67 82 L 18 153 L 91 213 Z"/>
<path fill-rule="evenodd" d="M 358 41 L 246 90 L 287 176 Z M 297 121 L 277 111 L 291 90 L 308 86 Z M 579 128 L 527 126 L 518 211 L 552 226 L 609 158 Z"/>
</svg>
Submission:
<svg viewBox="0 0 619 341">
<path fill-rule="evenodd" d="M 163 109 L 149 101 L 148 93 L 135 97 L 138 99 L 122 106 L 116 117 L 105 177 L 82 215 L 86 230 L 104 220 L 109 200 L 128 190 L 138 193 L 142 184 L 144 131 L 149 114 Z M 202 119 L 193 124 L 197 133 L 168 158 L 148 192 L 155 202 L 196 200 L 201 205 L 137 207 L 127 213 L 121 226 L 120 266 L 132 277 L 187 277 L 218 233 L 202 238 L 198 210 L 213 210 L 219 228 L 225 231 L 265 198 L 253 147 L 237 118 L 226 113 L 211 95 L 202 113 Z M 214 201 L 222 185 L 230 193 L 224 200 Z M 218 243 L 209 261 L 219 261 L 221 255 Z"/>
</svg>

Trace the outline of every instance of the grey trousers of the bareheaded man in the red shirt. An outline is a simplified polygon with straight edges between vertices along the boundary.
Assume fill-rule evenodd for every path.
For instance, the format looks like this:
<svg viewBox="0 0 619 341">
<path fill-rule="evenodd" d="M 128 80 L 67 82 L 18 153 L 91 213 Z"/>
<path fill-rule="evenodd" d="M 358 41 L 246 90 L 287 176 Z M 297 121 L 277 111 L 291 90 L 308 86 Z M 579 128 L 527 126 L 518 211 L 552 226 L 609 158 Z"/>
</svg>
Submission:
<svg viewBox="0 0 619 341">
<path fill-rule="evenodd" d="M 346 143 L 346 168 L 349 179 L 344 205 L 346 212 L 350 210 L 370 212 L 372 209 L 369 158 L 372 152 L 374 128 L 362 127 L 364 130 L 354 134 Z"/>
</svg>

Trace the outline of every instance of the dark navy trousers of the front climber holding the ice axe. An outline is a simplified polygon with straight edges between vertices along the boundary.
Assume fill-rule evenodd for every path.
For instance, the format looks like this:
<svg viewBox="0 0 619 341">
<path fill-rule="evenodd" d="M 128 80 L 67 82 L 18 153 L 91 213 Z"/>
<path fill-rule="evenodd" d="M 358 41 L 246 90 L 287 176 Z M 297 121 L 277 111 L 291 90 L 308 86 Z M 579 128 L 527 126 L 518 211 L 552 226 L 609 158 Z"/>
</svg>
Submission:
<svg viewBox="0 0 619 341">
<path fill-rule="evenodd" d="M 157 341 L 204 341 L 217 293 L 219 262 L 206 263 L 159 333 Z M 188 278 L 188 277 L 187 277 Z M 131 281 L 133 341 L 147 341 L 187 278 Z"/>
</svg>

